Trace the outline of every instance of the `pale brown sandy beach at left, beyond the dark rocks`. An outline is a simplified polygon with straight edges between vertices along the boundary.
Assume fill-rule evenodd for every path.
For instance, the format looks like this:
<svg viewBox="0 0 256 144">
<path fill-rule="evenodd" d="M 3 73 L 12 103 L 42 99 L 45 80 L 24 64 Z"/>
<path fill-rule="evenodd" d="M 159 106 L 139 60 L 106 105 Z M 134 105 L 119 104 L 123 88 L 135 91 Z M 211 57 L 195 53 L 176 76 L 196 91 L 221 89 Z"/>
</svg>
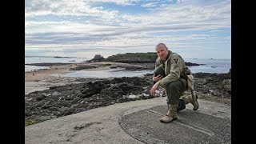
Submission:
<svg viewBox="0 0 256 144">
<path fill-rule="evenodd" d="M 91 63 L 72 63 L 63 66 L 51 66 L 46 70 L 28 71 L 25 73 L 25 94 L 36 90 L 47 90 L 50 86 L 65 86 L 66 84 L 79 83 L 77 77 L 61 77 L 61 74 L 67 74 L 77 67 L 86 66 L 86 70 L 109 70 L 110 67 L 132 69 L 141 67 L 136 64 L 121 62 L 91 62 Z M 90 68 L 93 67 L 93 68 Z"/>
</svg>

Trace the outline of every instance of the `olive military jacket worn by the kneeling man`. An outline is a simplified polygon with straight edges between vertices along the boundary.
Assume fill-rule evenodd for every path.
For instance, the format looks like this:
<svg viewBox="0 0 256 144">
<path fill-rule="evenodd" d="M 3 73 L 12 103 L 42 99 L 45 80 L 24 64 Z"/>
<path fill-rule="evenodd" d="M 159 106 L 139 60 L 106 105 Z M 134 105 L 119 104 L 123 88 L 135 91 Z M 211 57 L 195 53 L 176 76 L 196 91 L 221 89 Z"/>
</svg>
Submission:
<svg viewBox="0 0 256 144">
<path fill-rule="evenodd" d="M 183 74 L 184 70 L 187 70 L 186 64 L 183 58 L 168 50 L 168 58 L 166 61 L 161 60 L 159 57 L 156 59 L 155 66 L 162 66 L 165 70 L 166 77 L 159 81 L 160 86 L 166 87 L 168 83 L 177 81 Z"/>
</svg>

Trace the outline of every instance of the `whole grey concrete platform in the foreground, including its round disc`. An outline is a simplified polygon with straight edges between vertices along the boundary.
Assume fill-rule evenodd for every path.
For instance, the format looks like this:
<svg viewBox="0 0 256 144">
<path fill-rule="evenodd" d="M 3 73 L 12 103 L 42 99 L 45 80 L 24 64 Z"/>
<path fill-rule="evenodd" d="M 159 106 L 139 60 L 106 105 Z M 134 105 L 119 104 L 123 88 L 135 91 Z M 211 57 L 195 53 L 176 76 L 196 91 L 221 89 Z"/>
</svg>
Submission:
<svg viewBox="0 0 256 144">
<path fill-rule="evenodd" d="M 159 122 L 166 98 L 125 102 L 54 118 L 25 127 L 25 143 L 231 143 L 231 106 L 198 99 L 199 109 Z"/>
</svg>

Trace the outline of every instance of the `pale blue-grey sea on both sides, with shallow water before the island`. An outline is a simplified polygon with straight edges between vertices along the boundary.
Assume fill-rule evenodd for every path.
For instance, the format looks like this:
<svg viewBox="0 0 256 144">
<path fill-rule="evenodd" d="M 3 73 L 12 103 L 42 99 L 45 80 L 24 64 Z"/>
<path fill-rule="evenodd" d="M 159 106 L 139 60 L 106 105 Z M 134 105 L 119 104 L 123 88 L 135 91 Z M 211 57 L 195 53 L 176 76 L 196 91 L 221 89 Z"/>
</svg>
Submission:
<svg viewBox="0 0 256 144">
<path fill-rule="evenodd" d="M 62 62 L 62 63 L 79 63 L 86 62 L 92 58 L 54 58 L 42 56 L 25 57 L 25 71 L 46 70 L 50 66 L 29 66 L 30 63 L 44 63 L 44 62 Z M 231 59 L 215 59 L 215 58 L 184 58 L 185 62 L 192 62 L 200 64 L 200 66 L 189 66 L 191 73 L 211 73 L 222 74 L 228 73 L 231 69 Z M 118 78 L 118 77 L 134 77 L 142 76 L 144 74 L 153 74 L 153 70 L 78 70 L 71 71 L 68 74 L 54 74 L 54 76 L 62 77 L 80 77 L 80 78 Z"/>
</svg>

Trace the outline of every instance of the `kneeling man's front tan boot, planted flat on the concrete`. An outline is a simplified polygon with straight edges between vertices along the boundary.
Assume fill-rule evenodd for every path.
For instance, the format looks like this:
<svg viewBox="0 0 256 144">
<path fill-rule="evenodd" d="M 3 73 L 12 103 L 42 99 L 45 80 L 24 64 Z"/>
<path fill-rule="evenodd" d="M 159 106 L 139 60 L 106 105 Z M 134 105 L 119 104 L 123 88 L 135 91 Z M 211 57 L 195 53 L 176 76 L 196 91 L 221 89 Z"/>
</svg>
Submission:
<svg viewBox="0 0 256 144">
<path fill-rule="evenodd" d="M 166 116 L 160 119 L 160 122 L 171 122 L 177 119 L 177 108 L 178 104 L 170 105 L 170 109 L 168 110 Z"/>
</svg>

